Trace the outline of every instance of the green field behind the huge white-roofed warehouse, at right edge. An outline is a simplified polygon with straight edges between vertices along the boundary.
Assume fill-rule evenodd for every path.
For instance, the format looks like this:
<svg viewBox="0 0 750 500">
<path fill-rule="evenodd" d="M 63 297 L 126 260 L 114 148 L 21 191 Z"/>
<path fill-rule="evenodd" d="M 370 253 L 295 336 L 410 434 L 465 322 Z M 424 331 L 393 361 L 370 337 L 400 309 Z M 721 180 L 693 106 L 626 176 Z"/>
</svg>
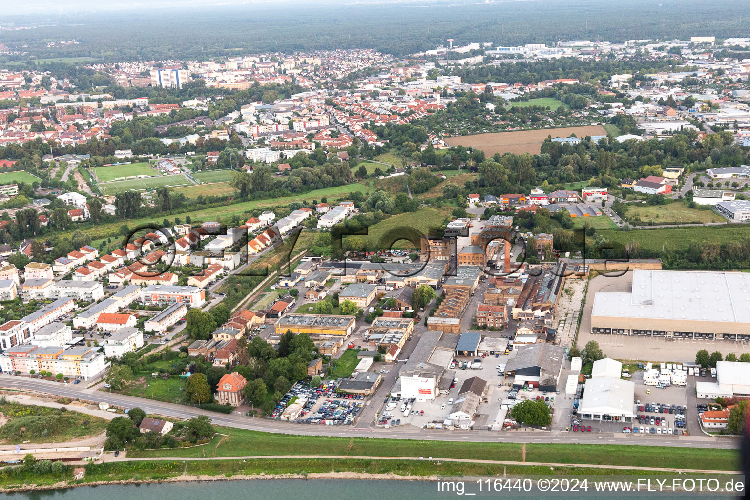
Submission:
<svg viewBox="0 0 750 500">
<path fill-rule="evenodd" d="M 628 244 L 637 241 L 643 250 L 686 250 L 691 242 L 726 241 L 750 238 L 750 225 L 727 224 L 722 226 L 674 227 L 664 229 L 634 229 L 633 231 L 599 231 L 609 241 Z"/>
</svg>

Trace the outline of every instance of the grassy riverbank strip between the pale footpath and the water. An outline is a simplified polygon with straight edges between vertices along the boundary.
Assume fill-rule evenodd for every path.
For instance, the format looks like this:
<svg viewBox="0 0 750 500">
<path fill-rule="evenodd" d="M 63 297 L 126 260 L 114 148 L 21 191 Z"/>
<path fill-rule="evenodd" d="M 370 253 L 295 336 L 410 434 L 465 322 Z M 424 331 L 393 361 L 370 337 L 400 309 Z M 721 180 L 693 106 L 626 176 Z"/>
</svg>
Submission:
<svg viewBox="0 0 750 500">
<path fill-rule="evenodd" d="M 115 484 L 158 484 L 258 479 L 350 479 L 385 481 L 437 481 L 438 478 L 532 478 L 601 476 L 676 476 L 682 471 L 605 469 L 577 466 L 466 463 L 446 460 L 373 460 L 280 458 L 254 460 L 151 460 L 92 463 L 69 466 L 62 475 L 5 468 L 0 492 L 61 490 L 71 487 Z M 269 474 L 269 471 L 273 471 Z M 83 478 L 75 474 L 85 472 Z M 691 472 L 715 475 L 715 471 Z M 720 472 L 719 472 L 720 473 Z M 720 473 L 721 474 L 721 473 Z"/>
</svg>

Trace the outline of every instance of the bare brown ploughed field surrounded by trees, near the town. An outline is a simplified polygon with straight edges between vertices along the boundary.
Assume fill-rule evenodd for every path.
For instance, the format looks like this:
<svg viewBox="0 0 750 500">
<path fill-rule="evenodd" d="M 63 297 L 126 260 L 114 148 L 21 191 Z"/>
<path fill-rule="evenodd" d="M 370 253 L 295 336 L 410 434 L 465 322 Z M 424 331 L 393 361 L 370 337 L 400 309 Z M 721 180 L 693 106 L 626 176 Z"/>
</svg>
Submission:
<svg viewBox="0 0 750 500">
<path fill-rule="evenodd" d="M 450 137 L 446 142 L 452 146 L 463 145 L 466 148 L 478 148 L 488 157 L 495 153 L 539 154 L 541 143 L 547 136 L 570 137 L 604 136 L 607 131 L 601 125 L 587 127 L 545 128 L 541 130 L 522 130 L 518 132 L 478 133 L 475 136 Z"/>
</svg>

